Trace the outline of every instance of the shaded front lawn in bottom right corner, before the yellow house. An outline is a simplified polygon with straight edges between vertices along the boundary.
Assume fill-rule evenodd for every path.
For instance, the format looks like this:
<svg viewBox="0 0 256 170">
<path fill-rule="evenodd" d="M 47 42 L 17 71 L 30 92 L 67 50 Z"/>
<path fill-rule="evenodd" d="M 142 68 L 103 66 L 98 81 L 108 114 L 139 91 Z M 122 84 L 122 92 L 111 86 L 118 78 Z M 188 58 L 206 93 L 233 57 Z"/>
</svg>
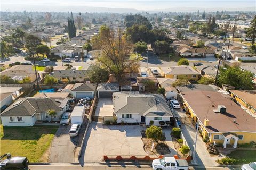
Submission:
<svg viewBox="0 0 256 170">
<path fill-rule="evenodd" d="M 229 158 L 218 160 L 220 164 L 247 164 L 256 160 L 256 150 L 235 150 L 227 155 Z"/>
</svg>

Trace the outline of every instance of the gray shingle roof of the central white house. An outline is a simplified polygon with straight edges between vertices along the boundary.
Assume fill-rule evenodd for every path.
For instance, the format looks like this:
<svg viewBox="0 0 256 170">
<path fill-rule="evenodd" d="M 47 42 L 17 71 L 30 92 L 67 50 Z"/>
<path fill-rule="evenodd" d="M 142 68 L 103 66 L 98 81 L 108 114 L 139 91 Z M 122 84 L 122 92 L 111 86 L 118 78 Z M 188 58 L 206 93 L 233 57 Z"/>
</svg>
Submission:
<svg viewBox="0 0 256 170">
<path fill-rule="evenodd" d="M 114 92 L 114 113 L 139 113 L 143 116 L 170 116 L 172 112 L 162 94 L 139 94 L 134 92 Z"/>
</svg>

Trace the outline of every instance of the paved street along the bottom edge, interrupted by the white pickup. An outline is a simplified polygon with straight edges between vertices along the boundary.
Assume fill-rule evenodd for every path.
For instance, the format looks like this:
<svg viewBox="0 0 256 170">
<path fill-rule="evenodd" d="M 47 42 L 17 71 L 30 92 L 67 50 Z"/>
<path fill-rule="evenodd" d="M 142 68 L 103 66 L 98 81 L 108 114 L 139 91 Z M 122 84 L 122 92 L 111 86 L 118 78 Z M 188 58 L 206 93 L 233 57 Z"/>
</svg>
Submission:
<svg viewBox="0 0 256 170">
<path fill-rule="evenodd" d="M 31 170 L 55 170 L 55 169 L 61 169 L 61 170 L 69 170 L 69 169 L 83 169 L 83 170 L 132 170 L 132 169 L 143 169 L 143 170 L 151 170 L 151 166 L 149 165 L 99 165 L 99 164 L 86 164 L 84 166 L 81 165 L 70 165 L 70 164 L 55 164 L 55 165 L 30 165 L 29 169 Z M 223 168 L 223 167 L 189 167 L 191 170 L 236 170 L 241 168 Z"/>
</svg>

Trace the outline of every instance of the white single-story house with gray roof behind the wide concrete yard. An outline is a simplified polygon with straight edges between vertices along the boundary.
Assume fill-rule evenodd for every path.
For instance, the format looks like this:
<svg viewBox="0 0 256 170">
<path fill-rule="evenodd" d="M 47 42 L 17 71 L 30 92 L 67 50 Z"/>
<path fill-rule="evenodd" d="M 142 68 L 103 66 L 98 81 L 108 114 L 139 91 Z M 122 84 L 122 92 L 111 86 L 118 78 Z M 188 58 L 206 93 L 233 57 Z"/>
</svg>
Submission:
<svg viewBox="0 0 256 170">
<path fill-rule="evenodd" d="M 114 115 L 117 123 L 145 123 L 159 126 L 159 122 L 172 121 L 173 114 L 162 94 L 114 92 Z M 167 124 L 165 124 L 167 125 Z"/>
</svg>

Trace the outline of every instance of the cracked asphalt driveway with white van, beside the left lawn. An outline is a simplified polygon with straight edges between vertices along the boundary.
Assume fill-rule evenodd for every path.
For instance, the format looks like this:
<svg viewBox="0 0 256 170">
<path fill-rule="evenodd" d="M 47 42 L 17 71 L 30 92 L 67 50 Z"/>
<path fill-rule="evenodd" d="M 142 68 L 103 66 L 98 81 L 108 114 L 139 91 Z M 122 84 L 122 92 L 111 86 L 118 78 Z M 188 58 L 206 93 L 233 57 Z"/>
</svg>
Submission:
<svg viewBox="0 0 256 170">
<path fill-rule="evenodd" d="M 50 148 L 50 163 L 74 163 L 77 157 L 77 148 L 81 146 L 83 135 L 86 129 L 87 120 L 84 123 L 77 137 L 70 138 L 68 132 L 71 128 L 69 125 L 61 125 L 54 135 Z"/>
</svg>

